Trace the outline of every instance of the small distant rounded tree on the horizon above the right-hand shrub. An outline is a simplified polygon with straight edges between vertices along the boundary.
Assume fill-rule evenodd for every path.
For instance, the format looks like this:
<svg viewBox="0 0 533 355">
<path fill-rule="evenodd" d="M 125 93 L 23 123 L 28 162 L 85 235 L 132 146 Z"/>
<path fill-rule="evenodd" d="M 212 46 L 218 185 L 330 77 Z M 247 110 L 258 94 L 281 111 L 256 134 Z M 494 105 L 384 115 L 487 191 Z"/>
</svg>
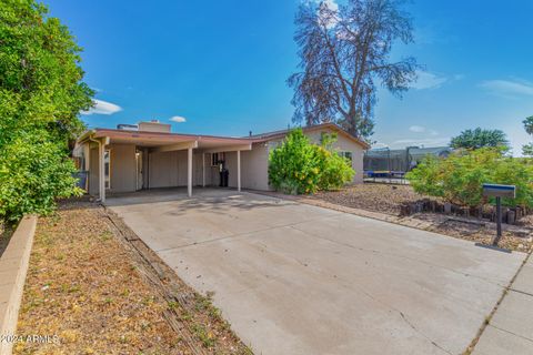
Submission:
<svg viewBox="0 0 533 355">
<path fill-rule="evenodd" d="M 509 150 L 509 141 L 501 130 L 465 130 L 460 135 L 452 138 L 450 146 L 455 149 L 480 149 L 503 146 Z"/>
</svg>

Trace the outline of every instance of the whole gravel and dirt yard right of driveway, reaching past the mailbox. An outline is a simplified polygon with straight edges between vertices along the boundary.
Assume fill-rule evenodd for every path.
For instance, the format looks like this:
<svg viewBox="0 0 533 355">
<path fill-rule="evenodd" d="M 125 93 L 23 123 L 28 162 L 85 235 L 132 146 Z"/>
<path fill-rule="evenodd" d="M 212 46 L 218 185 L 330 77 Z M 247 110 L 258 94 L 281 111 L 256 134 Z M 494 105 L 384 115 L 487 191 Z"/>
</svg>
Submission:
<svg viewBox="0 0 533 355">
<path fill-rule="evenodd" d="M 400 206 L 422 199 L 433 197 L 418 194 L 409 185 L 364 183 L 340 191 L 319 192 L 305 196 L 318 204 L 325 202 L 351 209 L 379 212 L 384 215 L 399 216 Z M 391 219 L 388 219 L 391 221 Z M 453 237 L 491 244 L 495 236 L 495 224 L 475 217 L 456 217 L 440 213 L 416 213 L 408 217 L 394 219 L 394 222 L 420 227 Z M 503 225 L 503 236 L 499 246 L 514 251 L 531 251 L 533 247 L 533 215 L 523 217 L 519 225 Z"/>
</svg>

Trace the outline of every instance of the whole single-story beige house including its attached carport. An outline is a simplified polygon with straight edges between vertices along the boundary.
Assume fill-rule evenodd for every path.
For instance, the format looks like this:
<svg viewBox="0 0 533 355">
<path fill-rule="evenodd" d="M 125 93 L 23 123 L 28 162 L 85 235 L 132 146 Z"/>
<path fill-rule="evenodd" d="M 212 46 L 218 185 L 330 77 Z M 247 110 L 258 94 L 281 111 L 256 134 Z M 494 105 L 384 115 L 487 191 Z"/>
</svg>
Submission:
<svg viewBox="0 0 533 355">
<path fill-rule="evenodd" d="M 89 193 L 105 199 L 105 192 L 133 192 L 144 189 L 218 186 L 220 171 L 228 171 L 227 185 L 251 190 L 269 186 L 269 151 L 280 144 L 289 131 L 247 138 L 171 133 L 170 124 L 159 121 L 94 129 L 77 142 L 74 156 L 88 171 Z M 312 142 L 320 144 L 322 133 L 338 133 L 334 148 L 351 159 L 363 181 L 363 154 L 369 145 L 333 123 L 303 128 Z"/>
</svg>

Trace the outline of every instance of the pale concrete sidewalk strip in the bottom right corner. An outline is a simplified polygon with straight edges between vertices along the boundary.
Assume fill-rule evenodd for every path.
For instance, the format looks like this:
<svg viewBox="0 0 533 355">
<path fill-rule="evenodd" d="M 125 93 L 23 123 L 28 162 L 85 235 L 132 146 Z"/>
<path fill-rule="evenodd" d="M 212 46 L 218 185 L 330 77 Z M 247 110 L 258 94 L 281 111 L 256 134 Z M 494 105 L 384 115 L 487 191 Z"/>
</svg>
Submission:
<svg viewBox="0 0 533 355">
<path fill-rule="evenodd" d="M 472 354 L 533 354 L 533 257 L 520 271 Z"/>
</svg>

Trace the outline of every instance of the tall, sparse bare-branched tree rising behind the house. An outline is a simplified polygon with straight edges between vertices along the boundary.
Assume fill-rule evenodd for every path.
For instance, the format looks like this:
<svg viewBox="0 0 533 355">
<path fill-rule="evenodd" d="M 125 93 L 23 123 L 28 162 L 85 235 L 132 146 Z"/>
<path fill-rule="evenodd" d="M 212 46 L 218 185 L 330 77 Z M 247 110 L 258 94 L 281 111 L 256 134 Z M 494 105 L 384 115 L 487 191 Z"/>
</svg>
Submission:
<svg viewBox="0 0 533 355">
<path fill-rule="evenodd" d="M 390 59 L 394 42 L 413 41 L 404 2 L 348 0 L 336 7 L 310 0 L 300 6 L 294 40 L 302 71 L 288 80 L 295 123 L 336 122 L 369 140 L 378 84 L 401 97 L 416 79 L 414 58 Z"/>
</svg>

